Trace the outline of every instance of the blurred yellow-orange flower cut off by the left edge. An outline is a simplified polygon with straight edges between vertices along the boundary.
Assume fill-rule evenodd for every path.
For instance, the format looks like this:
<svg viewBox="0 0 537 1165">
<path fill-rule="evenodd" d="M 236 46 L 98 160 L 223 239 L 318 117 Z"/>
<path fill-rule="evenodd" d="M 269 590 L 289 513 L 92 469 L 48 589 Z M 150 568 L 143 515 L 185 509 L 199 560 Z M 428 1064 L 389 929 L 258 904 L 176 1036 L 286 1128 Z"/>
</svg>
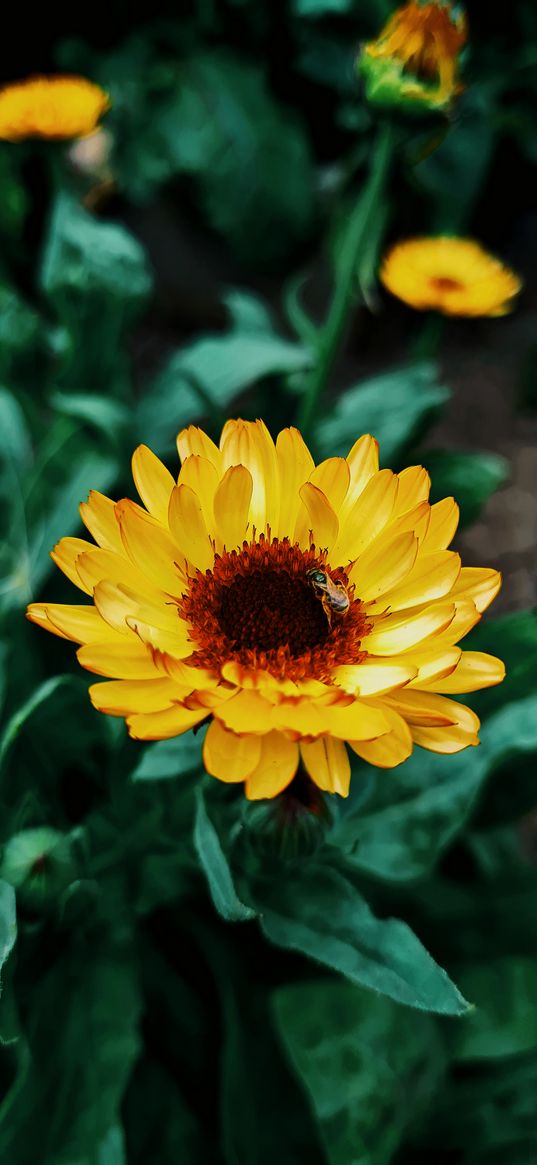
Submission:
<svg viewBox="0 0 537 1165">
<path fill-rule="evenodd" d="M 0 139 L 83 137 L 108 107 L 108 94 L 85 77 L 28 77 L 0 90 Z"/>
</svg>

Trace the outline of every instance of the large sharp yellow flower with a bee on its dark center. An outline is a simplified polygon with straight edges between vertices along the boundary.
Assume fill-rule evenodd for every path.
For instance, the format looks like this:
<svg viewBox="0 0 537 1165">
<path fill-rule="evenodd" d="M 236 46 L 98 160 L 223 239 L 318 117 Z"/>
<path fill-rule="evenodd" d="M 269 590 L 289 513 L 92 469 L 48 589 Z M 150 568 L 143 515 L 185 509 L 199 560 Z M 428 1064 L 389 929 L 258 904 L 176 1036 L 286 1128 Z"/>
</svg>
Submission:
<svg viewBox="0 0 537 1165">
<path fill-rule="evenodd" d="M 380 471 L 373 437 L 316 466 L 296 429 L 274 443 L 261 421 L 228 421 L 219 447 L 191 426 L 177 446 L 177 483 L 141 445 L 146 508 L 91 493 L 80 511 L 98 546 L 55 548 L 93 602 L 28 609 L 111 677 L 90 689 L 96 708 L 137 740 L 210 718 L 205 767 L 250 799 L 280 793 L 301 761 L 345 797 L 345 742 L 386 768 L 415 743 L 478 743 L 478 718 L 447 697 L 503 678 L 455 645 L 501 579 L 446 549 L 458 507 L 429 504 L 424 468 Z"/>
</svg>

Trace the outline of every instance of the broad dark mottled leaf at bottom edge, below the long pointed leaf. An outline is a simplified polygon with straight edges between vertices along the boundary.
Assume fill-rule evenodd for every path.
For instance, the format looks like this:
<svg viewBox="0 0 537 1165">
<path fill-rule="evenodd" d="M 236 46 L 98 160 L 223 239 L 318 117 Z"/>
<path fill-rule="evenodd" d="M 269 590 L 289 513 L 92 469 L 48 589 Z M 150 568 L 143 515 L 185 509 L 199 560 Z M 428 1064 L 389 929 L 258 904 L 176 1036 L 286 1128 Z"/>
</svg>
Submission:
<svg viewBox="0 0 537 1165">
<path fill-rule="evenodd" d="M 433 1023 L 348 983 L 285 986 L 273 1002 L 330 1165 L 389 1165 L 440 1082 Z"/>
</svg>

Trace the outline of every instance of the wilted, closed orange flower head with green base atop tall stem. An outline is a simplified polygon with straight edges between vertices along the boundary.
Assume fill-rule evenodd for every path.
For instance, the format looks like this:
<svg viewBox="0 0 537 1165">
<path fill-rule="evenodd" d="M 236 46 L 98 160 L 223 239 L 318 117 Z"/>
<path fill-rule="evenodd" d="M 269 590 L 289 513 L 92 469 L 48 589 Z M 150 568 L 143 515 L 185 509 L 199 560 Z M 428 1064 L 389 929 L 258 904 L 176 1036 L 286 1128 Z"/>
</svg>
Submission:
<svg viewBox="0 0 537 1165">
<path fill-rule="evenodd" d="M 446 110 L 461 90 L 459 54 L 466 37 L 466 16 L 448 2 L 410 0 L 396 8 L 376 41 L 361 51 L 368 99 Z"/>
</svg>

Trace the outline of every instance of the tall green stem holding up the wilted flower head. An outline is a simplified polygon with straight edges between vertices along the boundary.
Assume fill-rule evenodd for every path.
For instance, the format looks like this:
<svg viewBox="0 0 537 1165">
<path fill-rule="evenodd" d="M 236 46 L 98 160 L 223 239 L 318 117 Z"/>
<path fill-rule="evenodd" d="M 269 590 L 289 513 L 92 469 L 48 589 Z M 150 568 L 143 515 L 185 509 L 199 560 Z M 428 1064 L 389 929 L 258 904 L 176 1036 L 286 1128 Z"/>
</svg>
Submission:
<svg viewBox="0 0 537 1165">
<path fill-rule="evenodd" d="M 360 252 L 367 245 L 370 225 L 376 214 L 379 203 L 382 199 L 394 153 L 394 127 L 391 122 L 386 121 L 379 129 L 373 149 L 369 176 L 348 218 L 347 227 L 340 243 L 340 260 L 334 294 L 320 332 L 317 362 L 306 386 L 298 416 L 298 428 L 306 439 L 319 398 L 326 387 L 338 355 L 349 310 L 353 306 Z"/>
</svg>

